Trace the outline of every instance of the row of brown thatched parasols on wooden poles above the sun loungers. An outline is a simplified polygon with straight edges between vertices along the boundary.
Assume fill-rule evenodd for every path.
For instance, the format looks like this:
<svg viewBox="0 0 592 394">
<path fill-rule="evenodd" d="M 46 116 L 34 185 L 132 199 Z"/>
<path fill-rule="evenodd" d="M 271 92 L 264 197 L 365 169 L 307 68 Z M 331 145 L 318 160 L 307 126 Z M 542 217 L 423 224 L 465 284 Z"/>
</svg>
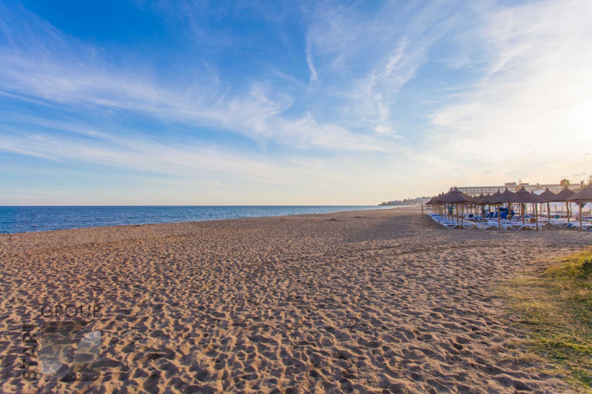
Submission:
<svg viewBox="0 0 592 394">
<path fill-rule="evenodd" d="M 535 214 L 535 221 L 536 221 L 536 229 L 539 228 L 539 217 L 538 217 L 538 204 L 547 204 L 547 214 L 549 219 L 551 219 L 551 202 L 566 202 L 567 203 L 567 221 L 570 222 L 570 202 L 576 202 L 580 206 L 580 230 L 582 228 L 582 206 L 587 202 L 592 202 L 592 184 L 588 185 L 586 188 L 580 190 L 579 192 L 574 192 L 568 188 L 561 190 L 561 192 L 555 194 L 547 188 L 544 192 L 540 193 L 540 195 L 536 195 L 534 192 L 529 193 L 526 189 L 522 188 L 518 190 L 516 193 L 510 192 L 506 188 L 504 192 L 500 192 L 498 189 L 496 193 L 493 195 L 487 194 L 484 196 L 481 194 L 478 197 L 472 198 L 465 193 L 462 193 L 457 188 L 449 191 L 448 193 L 440 193 L 430 199 L 430 201 L 426 202 L 426 205 L 436 206 L 436 209 L 439 211 L 440 214 L 450 216 L 450 207 L 456 207 L 456 220 L 459 219 L 459 214 L 461 218 L 461 225 L 464 221 L 464 209 L 465 205 L 497 205 L 498 212 L 497 212 L 497 221 L 498 227 L 500 226 L 501 215 L 500 215 L 500 208 L 503 204 L 508 204 L 508 212 L 511 212 L 511 204 L 520 204 L 521 211 L 522 211 L 522 222 L 525 222 L 525 208 L 526 204 L 532 204 L 532 210 Z M 459 212 L 459 205 L 461 206 L 461 212 Z M 444 208 L 445 210 L 443 211 Z"/>
</svg>

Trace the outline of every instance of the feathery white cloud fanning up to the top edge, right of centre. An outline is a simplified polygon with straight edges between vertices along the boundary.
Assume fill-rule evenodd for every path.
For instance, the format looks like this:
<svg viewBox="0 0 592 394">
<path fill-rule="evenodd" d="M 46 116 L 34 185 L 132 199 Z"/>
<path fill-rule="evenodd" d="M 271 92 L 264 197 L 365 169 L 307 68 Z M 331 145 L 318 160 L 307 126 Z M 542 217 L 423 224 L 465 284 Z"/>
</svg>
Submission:
<svg viewBox="0 0 592 394">
<path fill-rule="evenodd" d="M 386 2 L 371 15 L 359 8 L 335 2 L 319 5 L 308 31 L 307 53 L 314 49 L 315 73 L 326 75 L 319 94 L 343 103 L 342 125 L 394 129 L 392 109 L 401 88 L 429 61 L 427 51 L 453 26 L 455 17 L 442 2 L 424 8 Z M 326 101 L 320 103 L 319 111 L 326 111 Z"/>
</svg>

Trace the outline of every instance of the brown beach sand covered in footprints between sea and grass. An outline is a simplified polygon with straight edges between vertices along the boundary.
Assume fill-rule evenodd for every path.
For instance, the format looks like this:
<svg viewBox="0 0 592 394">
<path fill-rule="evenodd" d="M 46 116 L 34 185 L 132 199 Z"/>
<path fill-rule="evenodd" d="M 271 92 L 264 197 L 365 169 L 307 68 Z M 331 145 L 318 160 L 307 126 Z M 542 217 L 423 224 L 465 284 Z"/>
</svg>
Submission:
<svg viewBox="0 0 592 394">
<path fill-rule="evenodd" d="M 491 286 L 591 244 L 417 208 L 0 235 L 0 391 L 570 392 Z M 67 303 L 102 308 L 101 376 L 27 382 L 19 307 Z"/>
</svg>

